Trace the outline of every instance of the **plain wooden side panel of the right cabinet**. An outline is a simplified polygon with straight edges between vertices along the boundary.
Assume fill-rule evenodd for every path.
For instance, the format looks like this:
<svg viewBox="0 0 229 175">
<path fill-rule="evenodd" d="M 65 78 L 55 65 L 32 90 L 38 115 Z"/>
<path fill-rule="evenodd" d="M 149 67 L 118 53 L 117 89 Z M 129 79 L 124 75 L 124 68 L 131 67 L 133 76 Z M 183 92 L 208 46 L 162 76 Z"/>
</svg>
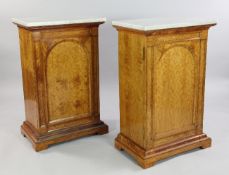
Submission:
<svg viewBox="0 0 229 175">
<path fill-rule="evenodd" d="M 144 35 L 119 31 L 121 133 L 144 146 L 145 54 Z"/>
</svg>

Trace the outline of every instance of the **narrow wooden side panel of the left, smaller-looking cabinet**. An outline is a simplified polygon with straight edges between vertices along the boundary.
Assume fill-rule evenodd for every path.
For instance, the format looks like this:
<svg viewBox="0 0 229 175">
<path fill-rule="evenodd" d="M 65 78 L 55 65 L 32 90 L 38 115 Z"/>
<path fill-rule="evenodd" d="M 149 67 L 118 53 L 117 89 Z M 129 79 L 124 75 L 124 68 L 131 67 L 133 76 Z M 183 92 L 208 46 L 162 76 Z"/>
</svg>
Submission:
<svg viewBox="0 0 229 175">
<path fill-rule="evenodd" d="M 26 121 L 37 128 L 39 125 L 39 110 L 32 33 L 23 28 L 19 28 L 19 38 Z"/>
</svg>

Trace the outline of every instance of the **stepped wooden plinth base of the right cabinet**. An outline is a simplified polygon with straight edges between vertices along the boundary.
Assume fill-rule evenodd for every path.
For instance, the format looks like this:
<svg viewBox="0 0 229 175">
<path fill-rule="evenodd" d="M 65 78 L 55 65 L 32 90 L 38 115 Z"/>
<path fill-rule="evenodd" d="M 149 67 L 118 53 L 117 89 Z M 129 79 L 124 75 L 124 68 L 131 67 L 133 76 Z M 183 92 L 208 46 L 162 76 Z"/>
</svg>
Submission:
<svg viewBox="0 0 229 175">
<path fill-rule="evenodd" d="M 195 148 L 208 148 L 210 146 L 211 138 L 207 137 L 206 134 L 195 135 L 150 150 L 143 149 L 122 134 L 119 134 L 115 139 L 115 147 L 133 156 L 142 168 L 149 168 L 155 162 L 179 153 Z"/>
</svg>

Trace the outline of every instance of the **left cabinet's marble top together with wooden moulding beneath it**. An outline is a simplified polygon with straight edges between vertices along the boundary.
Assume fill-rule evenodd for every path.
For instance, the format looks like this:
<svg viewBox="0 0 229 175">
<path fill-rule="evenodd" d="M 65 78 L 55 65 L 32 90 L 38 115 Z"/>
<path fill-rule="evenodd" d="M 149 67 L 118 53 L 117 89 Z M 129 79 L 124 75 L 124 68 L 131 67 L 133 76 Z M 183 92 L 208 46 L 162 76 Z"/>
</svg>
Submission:
<svg viewBox="0 0 229 175">
<path fill-rule="evenodd" d="M 45 18 L 12 18 L 12 22 L 17 26 L 27 29 L 41 29 L 53 27 L 69 27 L 80 25 L 102 24 L 106 22 L 106 18 L 73 18 L 73 19 L 45 19 Z"/>
</svg>

